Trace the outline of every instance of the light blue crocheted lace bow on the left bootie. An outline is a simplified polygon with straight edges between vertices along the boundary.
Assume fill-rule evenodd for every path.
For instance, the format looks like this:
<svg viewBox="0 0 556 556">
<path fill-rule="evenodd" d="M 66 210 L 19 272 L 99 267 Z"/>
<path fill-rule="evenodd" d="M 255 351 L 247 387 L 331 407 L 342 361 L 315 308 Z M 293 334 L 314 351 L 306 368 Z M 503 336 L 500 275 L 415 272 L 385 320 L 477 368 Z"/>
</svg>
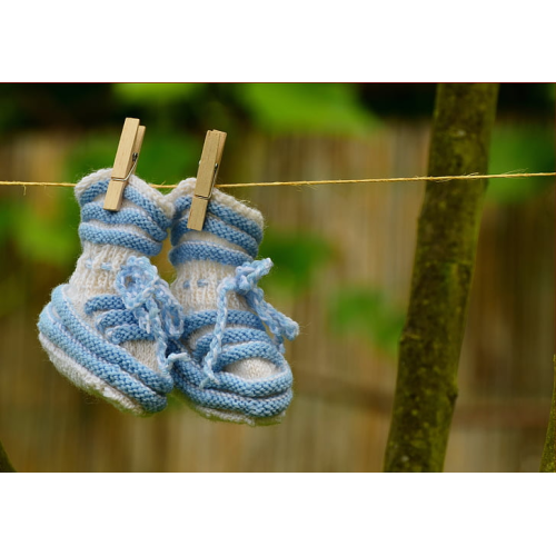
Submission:
<svg viewBox="0 0 556 556">
<path fill-rule="evenodd" d="M 169 371 L 168 340 L 178 340 L 183 334 L 185 316 L 168 284 L 149 259 L 131 256 L 118 272 L 115 287 L 139 328 L 155 337 L 159 368 Z"/>
</svg>

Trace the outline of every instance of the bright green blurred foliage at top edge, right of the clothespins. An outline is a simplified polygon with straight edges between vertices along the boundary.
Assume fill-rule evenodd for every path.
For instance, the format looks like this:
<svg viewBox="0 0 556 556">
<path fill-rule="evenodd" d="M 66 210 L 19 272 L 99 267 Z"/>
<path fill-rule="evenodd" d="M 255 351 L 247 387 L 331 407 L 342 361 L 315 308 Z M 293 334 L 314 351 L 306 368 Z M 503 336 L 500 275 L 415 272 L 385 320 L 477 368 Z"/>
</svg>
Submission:
<svg viewBox="0 0 556 556">
<path fill-rule="evenodd" d="M 237 93 L 262 131 L 365 135 L 377 127 L 353 83 L 245 83 Z"/>
</svg>

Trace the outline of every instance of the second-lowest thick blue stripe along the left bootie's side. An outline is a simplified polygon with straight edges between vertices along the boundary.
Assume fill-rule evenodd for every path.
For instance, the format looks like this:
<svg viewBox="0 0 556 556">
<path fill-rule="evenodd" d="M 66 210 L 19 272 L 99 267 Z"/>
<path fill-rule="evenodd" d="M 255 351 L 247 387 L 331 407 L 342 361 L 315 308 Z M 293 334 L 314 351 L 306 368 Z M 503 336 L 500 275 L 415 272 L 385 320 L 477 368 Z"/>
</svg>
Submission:
<svg viewBox="0 0 556 556">
<path fill-rule="evenodd" d="M 160 394 L 168 394 L 172 389 L 172 380 L 168 375 L 159 375 L 141 365 L 126 350 L 105 340 L 95 330 L 89 328 L 73 311 L 63 294 L 63 285 L 52 291 L 52 306 L 71 335 L 85 347 L 107 363 L 119 365 L 122 370 L 136 375 L 143 384 Z"/>
</svg>

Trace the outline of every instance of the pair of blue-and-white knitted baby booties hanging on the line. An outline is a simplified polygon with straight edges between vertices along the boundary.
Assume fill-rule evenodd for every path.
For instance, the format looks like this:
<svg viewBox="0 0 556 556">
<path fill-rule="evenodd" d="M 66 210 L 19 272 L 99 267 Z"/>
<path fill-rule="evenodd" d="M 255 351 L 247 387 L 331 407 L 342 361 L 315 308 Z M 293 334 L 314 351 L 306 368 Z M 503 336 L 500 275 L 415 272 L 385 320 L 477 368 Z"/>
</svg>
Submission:
<svg viewBox="0 0 556 556">
<path fill-rule="evenodd" d="M 255 260 L 261 214 L 215 190 L 202 231 L 193 231 L 187 219 L 195 178 L 165 196 L 136 176 L 111 212 L 102 208 L 110 176 L 99 170 L 76 187 L 82 254 L 39 318 L 52 364 L 136 415 L 160 411 L 177 388 L 209 418 L 279 421 L 292 396 L 284 339 L 298 326 L 257 286 L 271 267 Z M 168 230 L 171 286 L 149 260 Z"/>
</svg>

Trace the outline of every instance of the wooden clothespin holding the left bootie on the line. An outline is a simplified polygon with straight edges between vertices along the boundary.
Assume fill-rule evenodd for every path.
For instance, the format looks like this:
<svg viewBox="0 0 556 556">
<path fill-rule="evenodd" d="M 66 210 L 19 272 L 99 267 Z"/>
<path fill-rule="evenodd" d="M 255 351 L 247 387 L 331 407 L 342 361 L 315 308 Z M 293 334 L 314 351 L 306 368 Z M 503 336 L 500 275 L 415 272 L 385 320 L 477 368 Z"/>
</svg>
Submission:
<svg viewBox="0 0 556 556">
<path fill-rule="evenodd" d="M 135 172 L 145 137 L 145 126 L 137 118 L 126 118 L 116 152 L 112 176 L 105 197 L 106 210 L 120 210 L 123 189 Z"/>
</svg>

